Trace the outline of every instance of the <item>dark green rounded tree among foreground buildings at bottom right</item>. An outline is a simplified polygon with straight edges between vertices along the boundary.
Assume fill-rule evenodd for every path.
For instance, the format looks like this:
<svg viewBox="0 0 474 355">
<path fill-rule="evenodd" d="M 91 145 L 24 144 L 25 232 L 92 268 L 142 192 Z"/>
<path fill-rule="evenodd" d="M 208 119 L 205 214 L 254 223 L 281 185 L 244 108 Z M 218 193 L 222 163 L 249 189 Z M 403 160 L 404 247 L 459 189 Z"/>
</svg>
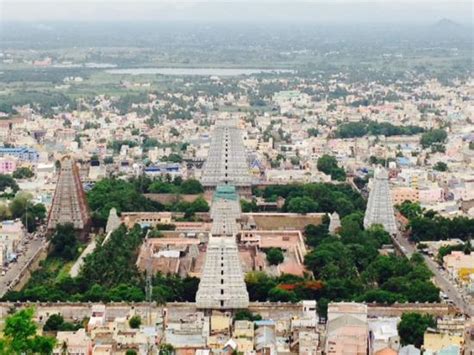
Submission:
<svg viewBox="0 0 474 355">
<path fill-rule="evenodd" d="M 403 313 L 398 324 L 398 334 L 403 345 L 423 345 L 423 335 L 429 327 L 436 327 L 436 321 L 431 315 L 419 313 Z"/>
</svg>

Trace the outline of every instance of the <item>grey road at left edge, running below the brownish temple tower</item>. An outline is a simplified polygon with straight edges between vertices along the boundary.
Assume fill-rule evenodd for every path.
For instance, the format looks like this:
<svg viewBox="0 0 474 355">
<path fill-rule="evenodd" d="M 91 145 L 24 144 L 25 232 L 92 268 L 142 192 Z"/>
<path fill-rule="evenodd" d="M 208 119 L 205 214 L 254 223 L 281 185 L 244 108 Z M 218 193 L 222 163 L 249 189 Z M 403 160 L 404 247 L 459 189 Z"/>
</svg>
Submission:
<svg viewBox="0 0 474 355">
<path fill-rule="evenodd" d="M 28 242 L 28 243 L 26 243 Z M 5 293 L 12 286 L 14 281 L 21 271 L 28 265 L 31 258 L 38 252 L 40 248 L 45 245 L 45 241 L 42 238 L 25 238 L 20 244 L 20 250 L 22 254 L 18 256 L 17 261 L 8 265 L 8 270 L 5 275 L 0 275 L 0 297 L 3 297 Z"/>
</svg>

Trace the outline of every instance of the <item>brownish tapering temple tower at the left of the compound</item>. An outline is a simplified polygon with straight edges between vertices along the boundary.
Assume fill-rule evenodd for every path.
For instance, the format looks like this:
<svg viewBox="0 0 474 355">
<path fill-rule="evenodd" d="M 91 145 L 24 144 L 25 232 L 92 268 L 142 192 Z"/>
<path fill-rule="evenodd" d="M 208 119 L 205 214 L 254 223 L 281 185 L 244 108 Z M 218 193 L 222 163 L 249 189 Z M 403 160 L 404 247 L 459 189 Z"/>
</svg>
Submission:
<svg viewBox="0 0 474 355">
<path fill-rule="evenodd" d="M 49 210 L 48 230 L 58 224 L 71 223 L 81 237 L 86 237 L 91 218 L 76 162 L 71 157 L 61 160 L 59 178 Z"/>
</svg>

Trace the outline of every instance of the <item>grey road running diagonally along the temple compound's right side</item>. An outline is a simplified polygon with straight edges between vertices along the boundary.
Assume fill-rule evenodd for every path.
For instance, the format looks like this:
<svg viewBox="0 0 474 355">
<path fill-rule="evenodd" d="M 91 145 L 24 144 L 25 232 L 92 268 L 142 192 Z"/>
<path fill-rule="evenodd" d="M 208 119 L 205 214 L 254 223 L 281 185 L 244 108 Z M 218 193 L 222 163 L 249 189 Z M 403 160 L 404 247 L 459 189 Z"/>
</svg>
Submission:
<svg viewBox="0 0 474 355">
<path fill-rule="evenodd" d="M 397 234 L 396 237 L 392 238 L 395 244 L 401 246 L 399 248 L 405 254 L 406 257 L 410 258 L 413 253 L 416 252 L 415 246 L 411 244 L 407 238 L 404 238 L 400 233 Z M 459 291 L 454 283 L 449 281 L 449 276 L 444 270 L 440 270 L 439 266 L 436 262 L 434 262 L 430 257 L 427 255 L 423 255 L 425 259 L 425 263 L 431 272 L 434 275 L 436 285 L 443 291 L 451 301 L 453 301 L 454 305 L 458 307 L 464 314 L 468 315 L 469 317 L 474 317 L 474 309 L 473 307 L 466 301 L 464 298 L 465 296 Z"/>
</svg>

